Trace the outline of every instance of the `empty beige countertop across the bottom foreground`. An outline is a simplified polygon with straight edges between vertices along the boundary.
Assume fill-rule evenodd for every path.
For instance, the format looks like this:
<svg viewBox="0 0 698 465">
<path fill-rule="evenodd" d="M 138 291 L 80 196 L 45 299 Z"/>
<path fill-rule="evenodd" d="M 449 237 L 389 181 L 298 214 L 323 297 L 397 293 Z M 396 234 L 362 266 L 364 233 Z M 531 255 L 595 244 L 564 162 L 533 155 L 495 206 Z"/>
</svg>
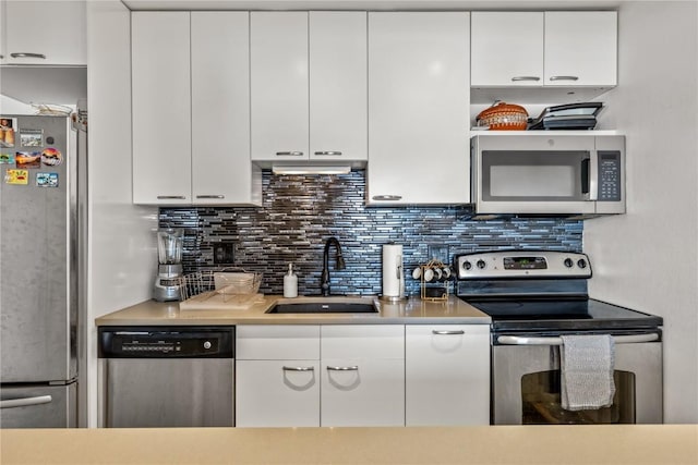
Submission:
<svg viewBox="0 0 698 465">
<path fill-rule="evenodd" d="M 0 430 L 10 464 L 698 463 L 698 425 Z"/>
</svg>

